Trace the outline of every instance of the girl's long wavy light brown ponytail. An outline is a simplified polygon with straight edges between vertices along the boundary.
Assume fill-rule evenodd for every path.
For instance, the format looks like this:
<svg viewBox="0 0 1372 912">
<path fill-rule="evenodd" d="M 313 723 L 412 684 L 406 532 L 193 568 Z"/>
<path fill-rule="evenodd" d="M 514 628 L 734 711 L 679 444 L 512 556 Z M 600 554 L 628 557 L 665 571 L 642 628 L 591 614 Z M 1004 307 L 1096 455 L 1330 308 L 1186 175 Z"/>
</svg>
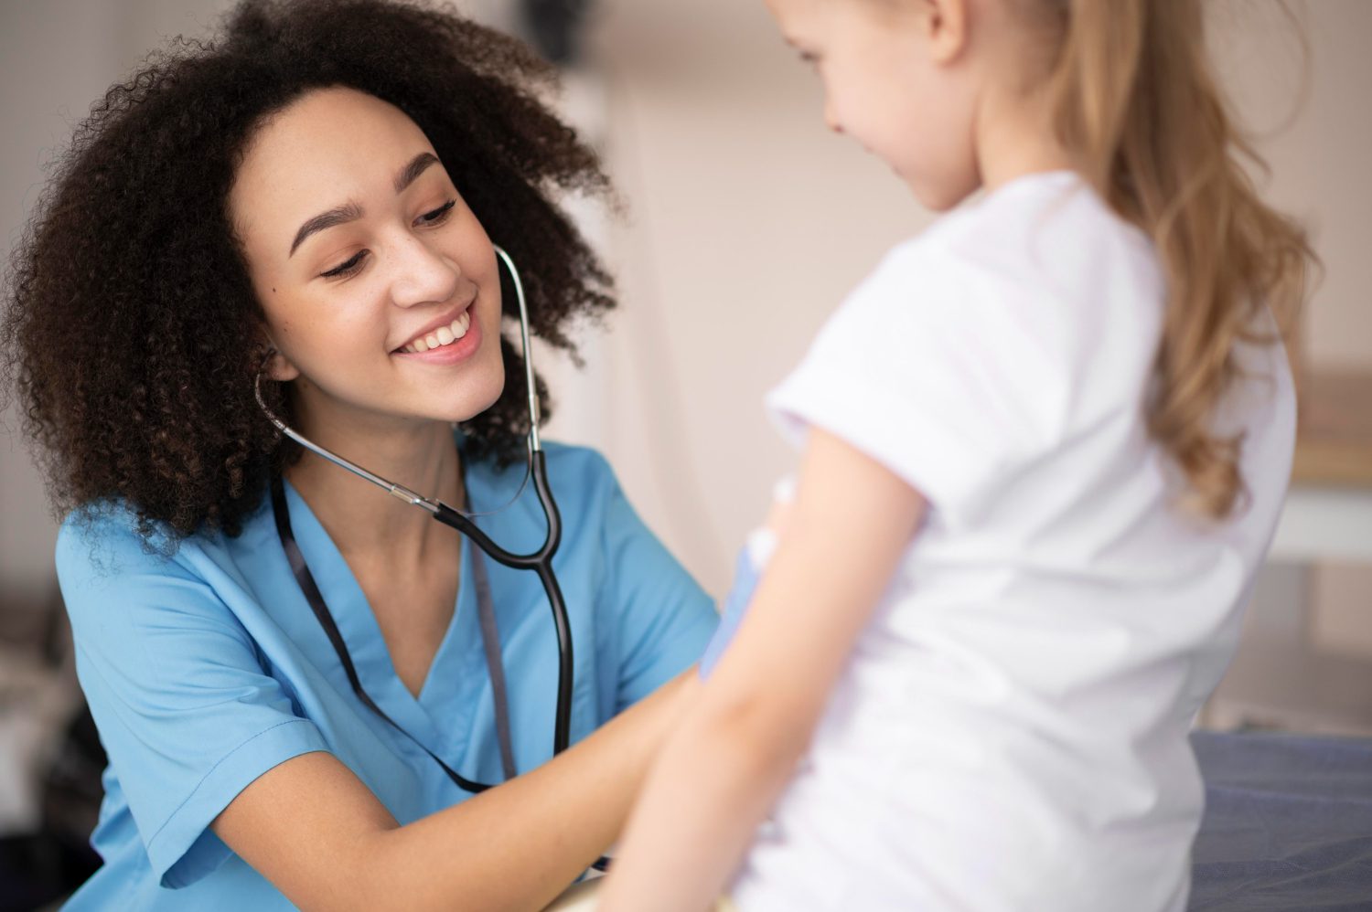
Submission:
<svg viewBox="0 0 1372 912">
<path fill-rule="evenodd" d="M 1216 84 L 1200 0 L 1030 1 L 1058 21 L 1044 85 L 1058 139 L 1152 237 L 1168 278 L 1148 429 L 1185 475 L 1188 506 L 1224 518 L 1244 492 L 1242 437 L 1211 429 L 1235 343 L 1259 340 L 1265 306 L 1291 326 L 1314 254 L 1242 165 L 1265 169 Z"/>
</svg>

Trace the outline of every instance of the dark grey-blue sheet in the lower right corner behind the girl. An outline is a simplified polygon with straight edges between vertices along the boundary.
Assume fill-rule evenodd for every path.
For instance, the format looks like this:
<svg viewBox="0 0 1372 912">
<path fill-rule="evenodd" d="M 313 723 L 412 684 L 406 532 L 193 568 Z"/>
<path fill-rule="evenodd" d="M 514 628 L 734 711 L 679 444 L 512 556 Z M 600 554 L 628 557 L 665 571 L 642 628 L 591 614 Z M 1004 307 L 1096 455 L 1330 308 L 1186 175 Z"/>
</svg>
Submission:
<svg viewBox="0 0 1372 912">
<path fill-rule="evenodd" d="M 1372 739 L 1194 732 L 1192 912 L 1372 909 Z"/>
</svg>

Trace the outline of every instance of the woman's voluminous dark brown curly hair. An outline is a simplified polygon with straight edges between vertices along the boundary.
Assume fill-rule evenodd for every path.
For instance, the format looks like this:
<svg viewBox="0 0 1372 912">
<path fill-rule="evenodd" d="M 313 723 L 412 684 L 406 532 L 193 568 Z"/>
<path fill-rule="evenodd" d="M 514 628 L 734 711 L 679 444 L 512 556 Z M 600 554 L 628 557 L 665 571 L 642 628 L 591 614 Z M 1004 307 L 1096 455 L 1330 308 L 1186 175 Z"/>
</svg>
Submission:
<svg viewBox="0 0 1372 912">
<path fill-rule="evenodd" d="M 539 100 L 553 81 L 523 44 L 450 8 L 246 0 L 217 40 L 178 37 L 111 86 L 56 162 L 8 277 L 5 379 L 55 506 L 122 499 L 145 539 L 237 535 L 272 473 L 299 455 L 254 399 L 263 313 L 228 193 L 263 119 L 317 88 L 366 92 L 424 130 L 521 265 L 532 331 L 575 355 L 569 321 L 615 300 L 556 199 L 612 192 L 594 152 Z M 499 400 L 462 425 L 469 458 L 506 462 L 523 448 L 523 361 L 504 339 L 502 354 Z M 291 416 L 280 384 L 263 394 Z"/>
</svg>

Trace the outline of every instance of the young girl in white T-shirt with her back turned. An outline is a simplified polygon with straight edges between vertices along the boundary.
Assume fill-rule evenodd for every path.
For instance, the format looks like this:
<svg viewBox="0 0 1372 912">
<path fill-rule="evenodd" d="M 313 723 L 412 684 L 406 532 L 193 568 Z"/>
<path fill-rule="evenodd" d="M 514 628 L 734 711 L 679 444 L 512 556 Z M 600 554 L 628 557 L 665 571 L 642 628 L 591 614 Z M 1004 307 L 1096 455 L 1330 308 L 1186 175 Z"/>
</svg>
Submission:
<svg viewBox="0 0 1372 912">
<path fill-rule="evenodd" d="M 1187 731 L 1291 461 L 1269 307 L 1309 259 L 1200 4 L 768 3 L 831 129 L 934 210 L 982 196 L 768 398 L 796 494 L 602 908 L 1181 909 Z"/>
</svg>

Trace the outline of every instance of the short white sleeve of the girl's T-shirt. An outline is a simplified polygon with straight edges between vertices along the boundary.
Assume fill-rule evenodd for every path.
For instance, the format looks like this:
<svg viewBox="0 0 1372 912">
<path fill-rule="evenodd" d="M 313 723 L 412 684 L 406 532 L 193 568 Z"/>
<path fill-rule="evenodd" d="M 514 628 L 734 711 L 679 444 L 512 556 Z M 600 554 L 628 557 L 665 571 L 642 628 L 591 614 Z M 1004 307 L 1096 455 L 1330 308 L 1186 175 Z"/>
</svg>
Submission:
<svg viewBox="0 0 1372 912">
<path fill-rule="evenodd" d="M 995 277 L 916 244 L 892 251 L 767 396 L 797 446 L 818 427 L 973 516 L 1052 436 L 1066 395 L 1048 321 Z"/>
</svg>

